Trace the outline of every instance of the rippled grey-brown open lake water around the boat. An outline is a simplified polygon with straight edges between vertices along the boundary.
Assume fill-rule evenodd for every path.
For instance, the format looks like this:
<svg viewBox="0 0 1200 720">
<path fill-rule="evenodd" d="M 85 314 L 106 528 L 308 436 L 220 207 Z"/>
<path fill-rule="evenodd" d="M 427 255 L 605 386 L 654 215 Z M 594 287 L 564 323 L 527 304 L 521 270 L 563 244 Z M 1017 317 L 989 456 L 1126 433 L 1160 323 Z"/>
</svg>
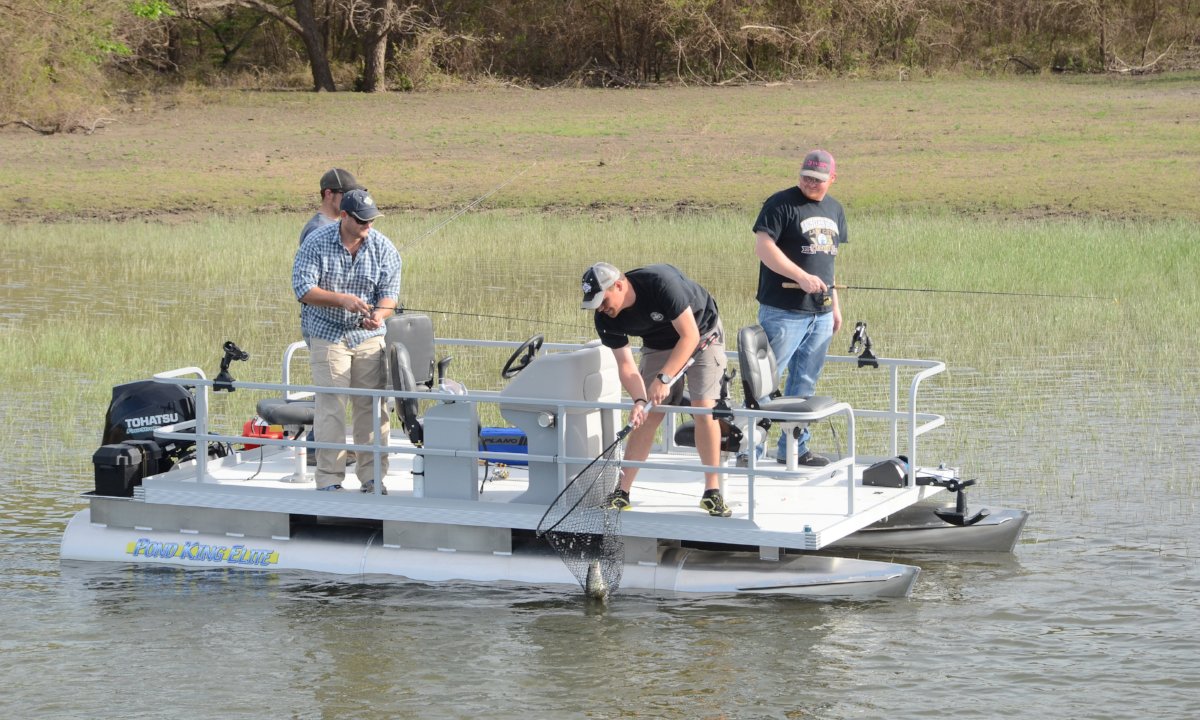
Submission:
<svg viewBox="0 0 1200 720">
<path fill-rule="evenodd" d="M 898 557 L 913 595 L 871 602 L 66 565 L 104 408 L 76 407 L 78 378 L 2 383 L 2 715 L 1200 716 L 1192 359 L 1126 377 L 1079 361 L 1103 348 L 998 371 L 930 349 L 973 505 L 1033 515 L 1013 554 Z M 1028 409 L 997 415 L 1014 394 Z M 73 431 L 43 432 L 64 409 Z"/>
</svg>

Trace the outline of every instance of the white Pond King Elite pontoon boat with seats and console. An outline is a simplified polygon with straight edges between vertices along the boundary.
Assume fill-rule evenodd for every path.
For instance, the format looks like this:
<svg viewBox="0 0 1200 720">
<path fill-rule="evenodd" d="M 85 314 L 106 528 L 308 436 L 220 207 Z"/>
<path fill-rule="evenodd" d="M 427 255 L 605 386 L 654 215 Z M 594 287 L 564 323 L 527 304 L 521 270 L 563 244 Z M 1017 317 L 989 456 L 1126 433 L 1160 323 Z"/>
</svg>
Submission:
<svg viewBox="0 0 1200 720">
<path fill-rule="evenodd" d="M 438 383 L 434 348 L 514 344 L 434 341 L 425 316 L 394 318 L 388 335 L 392 386 L 342 391 L 395 407 L 400 422 L 392 424 L 391 437 L 365 446 L 305 439 L 312 421 L 307 401 L 328 389 L 290 382 L 290 365 L 306 352 L 304 343 L 284 350 L 282 383 L 233 380 L 228 366 L 238 355 L 227 343 L 215 379 L 188 367 L 160 373 L 154 383 L 119 386 L 106 444 L 96 454 L 97 490 L 86 493 L 90 506 L 68 523 L 62 558 L 564 589 L 576 584 L 534 530 L 559 491 L 612 442 L 630 406 L 622 400 L 612 353 L 595 342 L 546 343 L 540 354 L 534 347 L 540 338 L 524 343 L 506 366 L 514 377 L 499 391 Z M 731 366 L 767 382 L 773 360 L 761 365 L 760 348 L 756 370 L 750 352 L 740 347 Z M 905 596 L 918 568 L 840 558 L 830 548 L 1012 551 L 1026 512 L 972 512 L 962 494 L 970 481 L 960 481 L 954 468 L 920 464 L 918 438 L 944 419 L 917 412 L 918 391 L 944 366 L 871 361 L 880 368 L 864 376 L 888 385 L 884 408 L 852 408 L 832 398 L 718 408 L 732 436 L 718 468 L 733 509 L 728 518 L 710 517 L 698 506 L 706 468 L 685 444 L 684 419 L 702 410 L 665 408 L 670 416 L 662 443 L 646 462 L 626 461 L 643 469 L 634 508 L 620 516 L 622 589 Z M 157 397 L 154 389 L 168 389 L 173 400 Z M 224 397 L 218 391 L 229 389 L 264 396 L 259 414 L 288 434 L 217 432 L 209 422 L 210 408 Z M 190 402 L 194 410 L 184 407 Z M 481 427 L 481 416 L 503 418 L 504 426 Z M 797 467 L 794 456 L 779 464 L 752 451 L 768 421 L 788 428 L 826 418 L 839 424 L 846 443 L 845 455 L 827 467 Z M 886 437 L 884 446 L 874 455 L 860 455 L 857 446 L 857 427 L 866 421 L 884 428 L 877 433 Z M 481 443 L 481 437 L 520 444 Z M 258 446 L 233 450 L 246 443 Z M 358 492 L 353 468 L 347 490 L 317 492 L 307 456 L 318 448 L 388 454 L 390 469 L 376 478 L 372 493 Z M 739 450 L 746 455 L 742 464 Z M 794 455 L 794 442 L 790 450 Z"/>
</svg>

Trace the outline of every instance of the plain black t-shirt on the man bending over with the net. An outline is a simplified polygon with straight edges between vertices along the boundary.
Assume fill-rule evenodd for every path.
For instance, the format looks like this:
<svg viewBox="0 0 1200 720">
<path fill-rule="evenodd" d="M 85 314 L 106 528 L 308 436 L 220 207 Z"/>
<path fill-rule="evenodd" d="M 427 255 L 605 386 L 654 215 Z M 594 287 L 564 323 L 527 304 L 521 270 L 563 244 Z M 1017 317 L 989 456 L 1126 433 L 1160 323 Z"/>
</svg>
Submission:
<svg viewBox="0 0 1200 720">
<path fill-rule="evenodd" d="M 612 349 L 629 344 L 629 336 L 642 338 L 642 346 L 670 350 L 679 342 L 671 320 L 691 307 L 700 334 L 716 328 L 716 300 L 673 265 L 647 265 L 625 274 L 634 288 L 634 304 L 610 318 L 595 313 L 600 342 Z"/>
</svg>

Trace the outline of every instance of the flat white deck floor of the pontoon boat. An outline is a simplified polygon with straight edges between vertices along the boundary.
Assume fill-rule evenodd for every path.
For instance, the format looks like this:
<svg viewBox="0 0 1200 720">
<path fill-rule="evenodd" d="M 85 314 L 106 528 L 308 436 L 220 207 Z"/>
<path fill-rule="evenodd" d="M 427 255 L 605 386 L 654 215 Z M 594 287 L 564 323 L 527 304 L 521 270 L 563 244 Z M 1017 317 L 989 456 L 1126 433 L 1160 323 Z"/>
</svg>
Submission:
<svg viewBox="0 0 1200 720">
<path fill-rule="evenodd" d="M 478 528 L 533 530 L 546 505 L 518 502 L 527 490 L 523 466 L 479 464 L 478 500 L 416 497 L 412 464 L 415 451 L 394 437 L 390 468 L 383 479 L 388 494 L 359 492 L 353 467 L 341 492 L 317 492 L 308 466 L 295 480 L 295 454 L 289 448 L 263 446 L 206 463 L 206 481 L 196 481 L 196 463 L 146 478 L 134 499 L 149 505 L 220 510 L 268 511 L 350 520 L 391 521 Z M 652 454 L 632 490 L 634 506 L 622 512 L 626 538 L 716 542 L 772 548 L 820 550 L 916 502 L 931 497 L 935 486 L 872 487 L 859 482 L 856 469 L 853 512 L 847 512 L 845 469 L 787 472 L 773 460 L 752 473 L 727 467 L 724 494 L 732 517 L 712 517 L 698 506 L 703 476 L 690 449 Z M 732 461 L 730 463 L 732 466 Z M 671 469 L 672 466 L 679 466 Z M 926 474 L 938 470 L 924 470 Z M 948 470 L 943 470 L 947 472 Z M 426 482 L 434 482 L 427 479 Z"/>
</svg>

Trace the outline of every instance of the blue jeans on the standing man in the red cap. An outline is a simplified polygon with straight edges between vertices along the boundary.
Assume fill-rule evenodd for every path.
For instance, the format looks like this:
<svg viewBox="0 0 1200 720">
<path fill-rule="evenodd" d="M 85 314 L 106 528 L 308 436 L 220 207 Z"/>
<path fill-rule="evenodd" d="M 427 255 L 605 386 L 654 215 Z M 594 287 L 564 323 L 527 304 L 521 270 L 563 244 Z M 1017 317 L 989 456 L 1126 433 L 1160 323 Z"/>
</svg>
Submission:
<svg viewBox="0 0 1200 720">
<path fill-rule="evenodd" d="M 784 395 L 811 397 L 817 378 L 821 377 L 821 368 L 824 367 L 829 341 L 833 340 L 833 313 L 796 312 L 760 305 L 758 324 L 767 331 L 780 377 L 787 370 Z M 799 457 L 809 451 L 809 437 L 811 433 L 808 427 L 800 431 L 796 448 Z M 776 457 L 784 457 L 785 448 L 786 443 L 780 433 Z"/>
</svg>

